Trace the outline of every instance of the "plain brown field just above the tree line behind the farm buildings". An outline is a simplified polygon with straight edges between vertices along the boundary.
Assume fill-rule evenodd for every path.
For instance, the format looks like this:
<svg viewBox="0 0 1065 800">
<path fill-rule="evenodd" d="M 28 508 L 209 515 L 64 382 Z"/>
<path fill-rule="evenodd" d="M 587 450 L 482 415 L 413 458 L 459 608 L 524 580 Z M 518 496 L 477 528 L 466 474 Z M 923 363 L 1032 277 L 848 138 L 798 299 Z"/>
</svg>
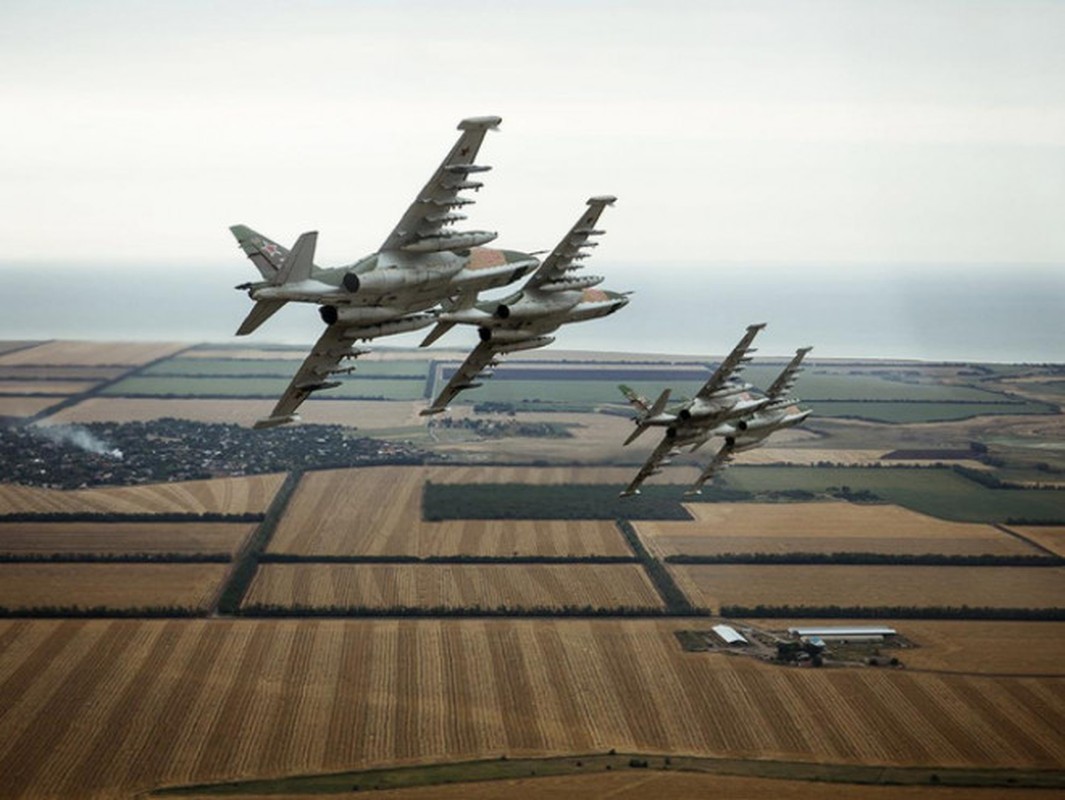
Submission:
<svg viewBox="0 0 1065 800">
<path fill-rule="evenodd" d="M 1065 606 L 1061 567 L 670 565 L 701 606 Z"/>
</svg>

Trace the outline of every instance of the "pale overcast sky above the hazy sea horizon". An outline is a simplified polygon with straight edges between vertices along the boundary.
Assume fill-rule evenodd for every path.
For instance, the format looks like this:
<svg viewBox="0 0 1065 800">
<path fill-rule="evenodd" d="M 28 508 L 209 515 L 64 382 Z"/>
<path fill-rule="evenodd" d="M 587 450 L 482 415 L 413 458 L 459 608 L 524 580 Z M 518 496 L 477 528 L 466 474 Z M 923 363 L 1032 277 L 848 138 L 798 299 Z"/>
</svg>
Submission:
<svg viewBox="0 0 1065 800">
<path fill-rule="evenodd" d="M 546 248 L 616 194 L 611 288 L 967 264 L 1065 290 L 1065 2 L 3 0 L 0 71 L 0 265 L 231 285 L 239 222 L 346 263 L 497 114 L 470 224 Z"/>
</svg>

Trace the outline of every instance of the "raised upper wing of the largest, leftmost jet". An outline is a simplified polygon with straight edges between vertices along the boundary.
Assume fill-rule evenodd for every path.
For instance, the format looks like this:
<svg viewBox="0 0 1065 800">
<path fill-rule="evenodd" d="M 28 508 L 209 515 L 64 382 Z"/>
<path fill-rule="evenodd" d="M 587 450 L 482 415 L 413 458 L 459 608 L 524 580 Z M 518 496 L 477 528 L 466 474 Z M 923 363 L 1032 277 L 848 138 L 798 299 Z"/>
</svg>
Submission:
<svg viewBox="0 0 1065 800">
<path fill-rule="evenodd" d="M 463 214 L 455 212 L 455 209 L 473 202 L 470 198 L 459 197 L 459 192 L 481 186 L 477 181 L 470 180 L 470 176 L 491 169 L 473 162 L 480 143 L 485 141 L 485 134 L 495 130 L 501 121 L 499 117 L 471 117 L 459 123 L 459 130 L 462 131 L 459 141 L 384 240 L 381 250 L 406 249 L 420 252 L 464 249 L 495 239 L 494 234 L 484 231 L 455 233 L 448 226 L 465 218 Z"/>
</svg>

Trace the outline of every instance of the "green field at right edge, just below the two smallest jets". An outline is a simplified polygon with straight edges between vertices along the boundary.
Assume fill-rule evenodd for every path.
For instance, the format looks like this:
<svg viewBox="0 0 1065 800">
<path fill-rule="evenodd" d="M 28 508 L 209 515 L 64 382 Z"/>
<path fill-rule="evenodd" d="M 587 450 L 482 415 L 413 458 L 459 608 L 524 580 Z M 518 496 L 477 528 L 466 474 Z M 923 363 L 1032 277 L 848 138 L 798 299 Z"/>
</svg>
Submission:
<svg viewBox="0 0 1065 800">
<path fill-rule="evenodd" d="M 1065 490 L 987 489 L 946 468 L 734 467 L 724 473 L 724 485 L 748 492 L 824 492 L 847 486 L 960 522 L 1065 520 Z"/>
</svg>

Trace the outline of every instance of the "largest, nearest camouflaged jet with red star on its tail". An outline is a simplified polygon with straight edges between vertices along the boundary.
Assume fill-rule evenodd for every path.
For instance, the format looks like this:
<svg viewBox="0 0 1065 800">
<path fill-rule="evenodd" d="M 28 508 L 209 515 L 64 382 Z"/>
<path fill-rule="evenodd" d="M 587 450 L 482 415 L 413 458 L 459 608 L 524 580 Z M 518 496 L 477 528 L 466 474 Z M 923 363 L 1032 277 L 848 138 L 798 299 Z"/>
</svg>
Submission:
<svg viewBox="0 0 1065 800">
<path fill-rule="evenodd" d="M 485 134 L 501 121 L 472 117 L 459 123 L 458 142 L 378 251 L 353 264 L 315 266 L 313 231 L 288 250 L 244 225 L 230 228 L 263 277 L 236 287 L 256 301 L 236 334 L 256 330 L 290 301 L 317 304 L 327 326 L 271 415 L 257 422 L 257 428 L 299 419 L 295 411 L 311 393 L 339 386 L 332 376 L 355 371 L 340 368 L 340 362 L 370 353 L 356 346 L 357 341 L 428 327 L 437 321 L 432 309 L 441 301 L 475 298 L 477 292 L 511 283 L 539 266 L 535 256 L 484 247 L 496 238 L 494 232 L 452 228 L 465 219 L 456 209 L 474 202 L 460 193 L 482 185 L 471 176 L 491 168 L 474 159 Z"/>
</svg>

